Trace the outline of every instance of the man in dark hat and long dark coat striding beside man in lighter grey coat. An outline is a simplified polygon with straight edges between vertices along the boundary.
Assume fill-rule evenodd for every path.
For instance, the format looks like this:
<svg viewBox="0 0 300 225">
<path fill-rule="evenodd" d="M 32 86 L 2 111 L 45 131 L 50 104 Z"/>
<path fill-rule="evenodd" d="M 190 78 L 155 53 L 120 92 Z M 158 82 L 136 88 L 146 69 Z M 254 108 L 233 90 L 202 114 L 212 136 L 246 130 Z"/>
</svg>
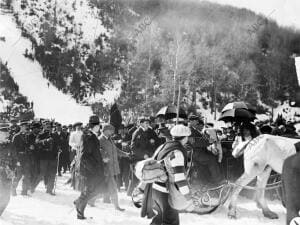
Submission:
<svg viewBox="0 0 300 225">
<path fill-rule="evenodd" d="M 79 198 L 74 201 L 77 210 L 77 219 L 86 219 L 84 216 L 85 207 L 90 199 L 99 193 L 106 191 L 106 180 L 104 176 L 103 160 L 100 153 L 100 144 L 97 138 L 100 130 L 98 116 L 91 116 L 89 119 L 90 129 L 83 135 L 83 149 L 78 156 L 77 170 L 85 179 Z"/>
</svg>

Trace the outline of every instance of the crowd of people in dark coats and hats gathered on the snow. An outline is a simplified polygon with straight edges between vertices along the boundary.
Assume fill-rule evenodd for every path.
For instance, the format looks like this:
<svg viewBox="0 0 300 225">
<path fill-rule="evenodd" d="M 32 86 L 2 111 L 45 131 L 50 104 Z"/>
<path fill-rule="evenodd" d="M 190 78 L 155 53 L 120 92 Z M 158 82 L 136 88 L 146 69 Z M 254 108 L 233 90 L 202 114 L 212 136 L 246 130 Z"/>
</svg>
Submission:
<svg viewBox="0 0 300 225">
<path fill-rule="evenodd" d="M 176 121 L 176 124 L 174 120 L 141 117 L 136 124 L 121 124 L 117 128 L 108 123 L 101 124 L 96 115 L 90 117 L 86 126 L 81 122 L 67 126 L 47 119 L 1 123 L 0 197 L 5 200 L 0 203 L 0 215 L 10 194 L 17 195 L 21 179 L 21 195 L 34 193 L 43 181 L 46 193 L 54 196 L 57 176 L 67 171 L 71 173 L 68 182 L 81 192 L 74 201 L 78 219 L 85 219 L 87 204 L 94 206 L 100 196 L 104 203 L 112 203 L 116 210 L 124 211 L 119 205 L 118 192 L 124 189 L 128 196 L 132 195 L 140 182 L 134 173 L 135 164 L 151 158 L 160 146 L 176 150 L 170 162 L 176 164 L 175 171 L 181 171 L 175 176 L 180 177 L 178 187 L 190 200 L 185 186 L 187 178 L 182 177 L 187 167 L 192 165 L 191 183 L 216 186 L 225 181 L 219 152 L 212 147 L 212 140 L 205 132 L 213 126 L 205 124 L 197 115 Z M 230 143 L 230 149 L 239 135 L 237 128 L 216 129 L 217 139 L 225 143 L 223 151 L 226 151 L 226 143 Z M 292 124 L 257 124 L 255 130 L 296 135 Z M 178 213 L 167 203 L 165 184 L 156 182 L 153 189 L 158 211 L 153 224 L 179 224 Z"/>
</svg>

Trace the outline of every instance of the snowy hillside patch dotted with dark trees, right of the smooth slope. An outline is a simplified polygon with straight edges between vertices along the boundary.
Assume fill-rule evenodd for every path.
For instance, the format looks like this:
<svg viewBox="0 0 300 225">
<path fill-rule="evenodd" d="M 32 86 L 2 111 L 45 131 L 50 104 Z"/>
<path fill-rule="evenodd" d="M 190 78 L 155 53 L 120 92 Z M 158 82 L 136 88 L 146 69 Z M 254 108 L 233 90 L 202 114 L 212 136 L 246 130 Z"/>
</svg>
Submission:
<svg viewBox="0 0 300 225">
<path fill-rule="evenodd" d="M 22 35 L 32 41 L 26 51 L 39 61 L 50 83 L 80 103 L 114 102 L 121 90 L 111 72 L 101 71 L 110 31 L 102 25 L 99 9 L 87 0 L 28 0 L 12 5 Z"/>
</svg>

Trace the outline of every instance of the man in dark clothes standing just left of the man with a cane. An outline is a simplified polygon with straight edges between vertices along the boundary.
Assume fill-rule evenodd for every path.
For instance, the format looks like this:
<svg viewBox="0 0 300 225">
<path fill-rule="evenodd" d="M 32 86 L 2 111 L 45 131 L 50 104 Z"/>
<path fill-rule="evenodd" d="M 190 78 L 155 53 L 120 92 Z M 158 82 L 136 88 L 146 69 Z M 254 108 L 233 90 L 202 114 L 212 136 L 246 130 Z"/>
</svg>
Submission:
<svg viewBox="0 0 300 225">
<path fill-rule="evenodd" d="M 20 165 L 16 168 L 16 176 L 13 180 L 12 195 L 17 195 L 17 187 L 19 181 L 23 177 L 22 182 L 22 192 L 21 195 L 28 195 L 28 190 L 30 189 L 30 180 L 31 180 L 31 168 L 30 168 L 30 155 L 29 155 L 29 146 L 27 141 L 27 125 L 28 122 L 21 122 L 19 124 L 20 131 L 15 134 L 12 140 L 13 147 L 17 153 L 18 161 Z"/>
</svg>

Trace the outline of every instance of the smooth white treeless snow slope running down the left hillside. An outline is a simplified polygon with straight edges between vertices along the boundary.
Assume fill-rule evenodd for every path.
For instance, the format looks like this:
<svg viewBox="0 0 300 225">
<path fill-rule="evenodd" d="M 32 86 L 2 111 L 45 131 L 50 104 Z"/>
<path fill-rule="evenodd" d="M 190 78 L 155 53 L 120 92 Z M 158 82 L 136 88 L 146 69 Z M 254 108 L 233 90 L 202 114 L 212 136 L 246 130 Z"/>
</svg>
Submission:
<svg viewBox="0 0 300 225">
<path fill-rule="evenodd" d="M 13 16 L 1 11 L 0 36 L 5 37 L 5 41 L 0 41 L 0 60 L 7 62 L 20 93 L 34 102 L 36 117 L 55 118 L 64 124 L 88 121 L 91 108 L 79 105 L 71 96 L 63 94 L 51 84 L 48 87 L 40 64 L 24 57 L 25 49 L 31 49 L 31 42 L 21 36 Z"/>
</svg>

